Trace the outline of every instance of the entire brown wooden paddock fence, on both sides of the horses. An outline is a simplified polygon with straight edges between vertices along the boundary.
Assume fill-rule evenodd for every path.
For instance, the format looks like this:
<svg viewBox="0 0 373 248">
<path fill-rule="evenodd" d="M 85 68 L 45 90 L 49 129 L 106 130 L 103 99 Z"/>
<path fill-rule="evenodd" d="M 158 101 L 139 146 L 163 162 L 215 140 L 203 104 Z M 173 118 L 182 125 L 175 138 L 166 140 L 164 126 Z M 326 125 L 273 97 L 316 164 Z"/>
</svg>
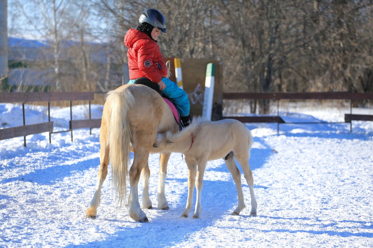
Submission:
<svg viewBox="0 0 373 248">
<path fill-rule="evenodd" d="M 94 92 L 0 92 L 0 103 L 22 103 L 23 125 L 0 129 L 0 140 L 23 136 L 23 145 L 26 146 L 26 136 L 36 133 L 49 132 L 49 142 L 54 133 L 70 132 L 73 141 L 73 129 L 99 128 L 101 119 L 91 119 L 91 101 L 94 100 Z M 350 113 L 345 113 L 345 122 L 350 123 L 352 131 L 353 120 L 373 121 L 373 115 L 358 115 L 352 113 L 353 100 L 373 100 L 373 93 L 348 93 L 348 92 L 319 92 L 319 93 L 223 93 L 223 100 L 274 100 L 277 102 L 276 115 L 256 116 L 223 116 L 223 119 L 236 119 L 248 123 L 277 123 L 279 132 L 280 124 L 310 124 L 310 123 L 342 123 L 342 122 L 285 122 L 279 115 L 280 100 L 349 100 Z M 69 129 L 53 131 L 53 122 L 50 120 L 50 102 L 69 101 L 70 121 Z M 72 119 L 72 101 L 88 101 L 89 119 Z M 26 125 L 25 103 L 47 102 L 48 122 Z"/>
</svg>

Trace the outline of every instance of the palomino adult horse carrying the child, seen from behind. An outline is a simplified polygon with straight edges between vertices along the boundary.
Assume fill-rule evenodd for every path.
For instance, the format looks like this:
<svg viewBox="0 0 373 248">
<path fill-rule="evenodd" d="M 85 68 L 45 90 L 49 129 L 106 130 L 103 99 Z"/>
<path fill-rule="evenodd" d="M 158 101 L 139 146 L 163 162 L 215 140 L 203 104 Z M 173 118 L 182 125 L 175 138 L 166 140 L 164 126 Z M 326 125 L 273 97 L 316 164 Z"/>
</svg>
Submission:
<svg viewBox="0 0 373 248">
<path fill-rule="evenodd" d="M 112 184 L 116 190 L 116 200 L 122 205 L 127 198 L 126 179 L 129 175 L 130 191 L 128 197 L 129 216 L 138 222 L 147 222 L 148 218 L 140 208 L 138 200 L 138 182 L 143 175 L 144 188 L 142 207 L 152 208 L 148 180 L 150 170 L 148 157 L 157 133 L 166 131 L 175 133 L 179 126 L 172 110 L 155 90 L 139 85 L 126 84 L 106 95 L 100 129 L 100 168 L 96 191 L 86 211 L 89 217 L 97 215 L 100 204 L 101 187 L 107 175 L 110 161 Z M 131 168 L 130 150 L 134 152 Z M 168 209 L 164 194 L 167 174 L 167 162 L 170 153 L 161 153 L 158 181 L 158 209 Z"/>
</svg>

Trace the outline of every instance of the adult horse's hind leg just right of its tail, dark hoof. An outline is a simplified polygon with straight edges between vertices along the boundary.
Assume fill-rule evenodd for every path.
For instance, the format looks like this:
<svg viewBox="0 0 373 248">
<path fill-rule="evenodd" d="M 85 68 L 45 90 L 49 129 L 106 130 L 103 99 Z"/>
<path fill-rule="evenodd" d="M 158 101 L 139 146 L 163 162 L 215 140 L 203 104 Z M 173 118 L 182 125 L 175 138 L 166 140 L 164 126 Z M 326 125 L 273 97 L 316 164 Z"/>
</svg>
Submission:
<svg viewBox="0 0 373 248">
<path fill-rule="evenodd" d="M 134 161 L 129 169 L 129 216 L 138 222 L 148 222 L 144 211 L 140 208 L 139 198 L 138 198 L 138 182 L 140 180 L 140 174 L 142 169 L 147 165 L 149 157 L 149 151 L 146 149 L 136 149 L 134 148 Z"/>
</svg>

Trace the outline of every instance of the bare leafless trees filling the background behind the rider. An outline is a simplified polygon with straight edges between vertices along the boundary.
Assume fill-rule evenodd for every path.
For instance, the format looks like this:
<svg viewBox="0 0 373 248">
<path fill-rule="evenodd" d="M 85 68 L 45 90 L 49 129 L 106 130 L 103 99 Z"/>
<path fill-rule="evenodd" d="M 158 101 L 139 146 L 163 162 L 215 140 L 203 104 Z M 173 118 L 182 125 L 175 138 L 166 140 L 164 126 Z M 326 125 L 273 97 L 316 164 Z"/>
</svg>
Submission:
<svg viewBox="0 0 373 248">
<path fill-rule="evenodd" d="M 29 27 L 53 40 L 56 88 L 76 79 L 85 90 L 94 89 L 92 80 L 101 91 L 117 87 L 125 33 L 142 10 L 156 8 L 167 20 L 164 57 L 221 59 L 225 91 L 373 91 L 373 0 L 11 1 Z M 37 7 L 32 15 L 29 3 Z M 66 57 L 71 40 L 79 46 Z M 87 40 L 101 43 L 100 62 Z M 66 65 L 74 72 L 60 70 Z M 269 110 L 260 105 L 251 110 Z"/>
</svg>

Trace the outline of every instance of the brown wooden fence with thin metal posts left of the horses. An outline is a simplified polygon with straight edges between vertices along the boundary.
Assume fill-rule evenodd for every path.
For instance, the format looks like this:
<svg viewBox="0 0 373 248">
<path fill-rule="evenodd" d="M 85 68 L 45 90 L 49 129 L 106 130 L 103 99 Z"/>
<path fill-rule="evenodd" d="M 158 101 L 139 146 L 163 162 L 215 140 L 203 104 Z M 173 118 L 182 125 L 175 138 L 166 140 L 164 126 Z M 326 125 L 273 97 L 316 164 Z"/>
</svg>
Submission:
<svg viewBox="0 0 373 248">
<path fill-rule="evenodd" d="M 89 119 L 72 119 L 72 101 L 89 101 Z M 99 128 L 101 119 L 91 119 L 91 100 L 94 100 L 93 92 L 0 92 L 1 103 L 22 103 L 23 126 L 0 129 L 0 140 L 23 136 L 24 146 L 26 146 L 26 136 L 35 133 L 49 132 L 49 142 L 51 143 L 51 134 L 61 132 L 71 132 L 71 141 L 73 140 L 73 129 Z M 69 129 L 53 132 L 53 122 L 50 121 L 50 102 L 51 101 L 69 101 L 70 102 L 70 122 Z M 48 122 L 26 125 L 25 103 L 27 102 L 48 102 Z"/>
</svg>

